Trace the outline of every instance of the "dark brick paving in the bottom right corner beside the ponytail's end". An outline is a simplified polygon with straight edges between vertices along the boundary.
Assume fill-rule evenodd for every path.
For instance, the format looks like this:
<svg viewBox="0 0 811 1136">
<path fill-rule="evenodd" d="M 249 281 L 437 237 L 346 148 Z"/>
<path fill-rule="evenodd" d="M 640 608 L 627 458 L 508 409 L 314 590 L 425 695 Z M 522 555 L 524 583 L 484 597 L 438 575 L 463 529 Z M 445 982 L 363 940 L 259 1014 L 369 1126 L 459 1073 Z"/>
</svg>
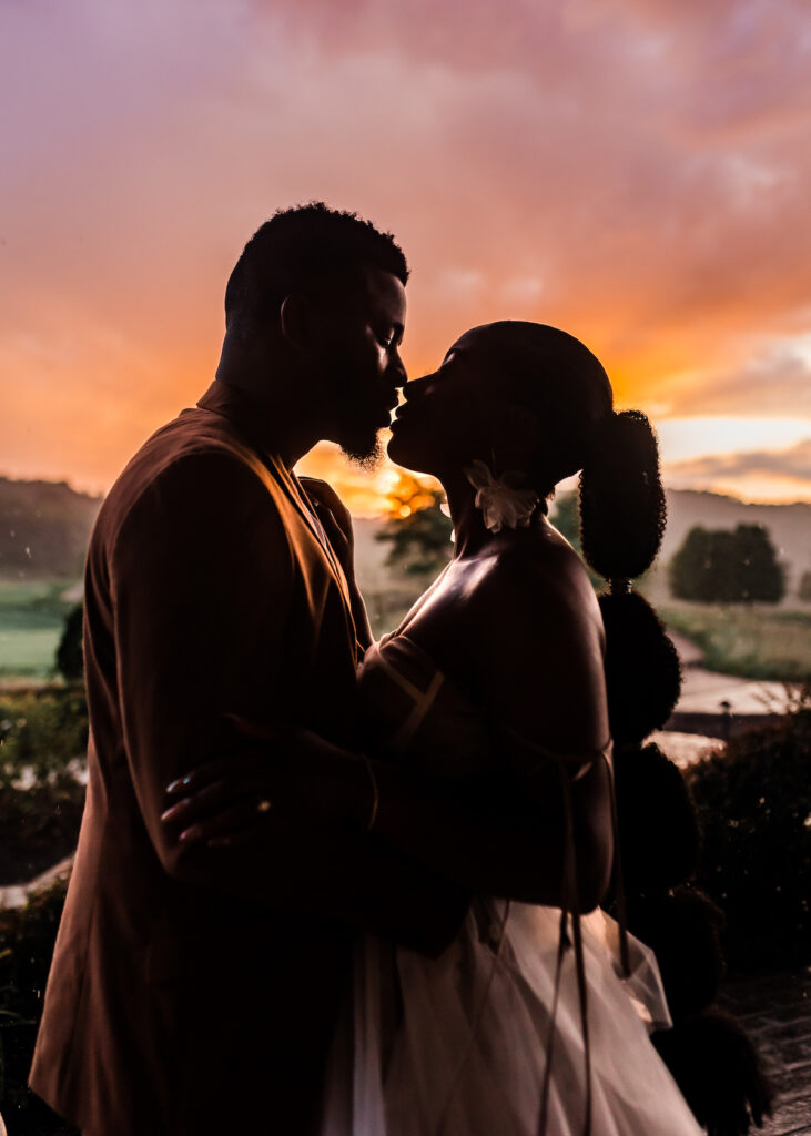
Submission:
<svg viewBox="0 0 811 1136">
<path fill-rule="evenodd" d="M 741 978 L 720 999 L 750 1033 L 777 1088 L 763 1136 L 811 1134 L 811 967 L 805 971 Z M 758 1129 L 753 1129 L 756 1134 Z"/>
</svg>

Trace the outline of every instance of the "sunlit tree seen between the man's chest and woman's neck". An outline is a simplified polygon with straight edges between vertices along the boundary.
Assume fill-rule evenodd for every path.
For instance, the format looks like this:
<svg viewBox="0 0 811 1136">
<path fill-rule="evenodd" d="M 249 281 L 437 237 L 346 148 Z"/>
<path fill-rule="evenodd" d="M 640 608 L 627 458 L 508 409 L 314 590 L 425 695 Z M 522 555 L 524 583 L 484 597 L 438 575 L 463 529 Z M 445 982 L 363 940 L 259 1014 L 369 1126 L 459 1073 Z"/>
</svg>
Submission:
<svg viewBox="0 0 811 1136">
<path fill-rule="evenodd" d="M 444 493 L 427 482 L 401 474 L 387 495 L 388 519 L 376 540 L 388 541 L 386 565 L 409 576 L 436 576 L 453 552 L 453 526 L 442 512 Z"/>
</svg>

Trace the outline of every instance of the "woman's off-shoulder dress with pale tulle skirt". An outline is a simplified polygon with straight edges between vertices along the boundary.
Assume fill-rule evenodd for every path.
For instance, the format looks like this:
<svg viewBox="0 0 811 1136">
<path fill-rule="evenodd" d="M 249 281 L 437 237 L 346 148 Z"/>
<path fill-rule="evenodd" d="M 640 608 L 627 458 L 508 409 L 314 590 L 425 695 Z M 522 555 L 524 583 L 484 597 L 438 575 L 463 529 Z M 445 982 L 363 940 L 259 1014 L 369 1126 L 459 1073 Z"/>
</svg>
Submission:
<svg viewBox="0 0 811 1136">
<path fill-rule="evenodd" d="M 369 752 L 460 792 L 492 777 L 480 710 L 406 635 L 367 652 L 360 686 Z M 560 909 L 477 896 L 437 959 L 361 936 L 320 1136 L 701 1136 L 649 1041 L 670 1025 L 652 951 L 628 936 L 622 978 L 614 920 L 583 917 L 578 951 L 566 927 Z"/>
</svg>

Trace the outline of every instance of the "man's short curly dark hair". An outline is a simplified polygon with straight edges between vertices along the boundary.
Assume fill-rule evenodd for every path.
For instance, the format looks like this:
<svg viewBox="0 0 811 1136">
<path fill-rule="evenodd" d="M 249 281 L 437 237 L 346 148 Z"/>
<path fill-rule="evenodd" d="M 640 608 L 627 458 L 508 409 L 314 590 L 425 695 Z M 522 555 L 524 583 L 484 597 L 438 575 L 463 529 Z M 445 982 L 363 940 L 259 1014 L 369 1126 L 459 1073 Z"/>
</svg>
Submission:
<svg viewBox="0 0 811 1136">
<path fill-rule="evenodd" d="M 279 209 L 253 234 L 225 290 L 225 324 L 251 326 L 278 311 L 291 292 L 352 266 L 382 268 L 401 284 L 409 277 L 402 250 L 357 214 L 311 201 Z"/>
</svg>

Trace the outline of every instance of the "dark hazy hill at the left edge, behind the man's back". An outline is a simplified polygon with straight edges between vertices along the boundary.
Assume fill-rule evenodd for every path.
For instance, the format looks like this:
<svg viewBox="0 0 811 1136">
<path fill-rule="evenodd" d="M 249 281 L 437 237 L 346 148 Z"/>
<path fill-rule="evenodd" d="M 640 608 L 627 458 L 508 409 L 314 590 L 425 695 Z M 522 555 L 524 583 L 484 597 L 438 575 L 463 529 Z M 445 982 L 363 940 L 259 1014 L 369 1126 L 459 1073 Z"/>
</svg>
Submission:
<svg viewBox="0 0 811 1136">
<path fill-rule="evenodd" d="M 0 477 L 0 578 L 81 576 L 100 506 L 66 482 Z"/>
</svg>

